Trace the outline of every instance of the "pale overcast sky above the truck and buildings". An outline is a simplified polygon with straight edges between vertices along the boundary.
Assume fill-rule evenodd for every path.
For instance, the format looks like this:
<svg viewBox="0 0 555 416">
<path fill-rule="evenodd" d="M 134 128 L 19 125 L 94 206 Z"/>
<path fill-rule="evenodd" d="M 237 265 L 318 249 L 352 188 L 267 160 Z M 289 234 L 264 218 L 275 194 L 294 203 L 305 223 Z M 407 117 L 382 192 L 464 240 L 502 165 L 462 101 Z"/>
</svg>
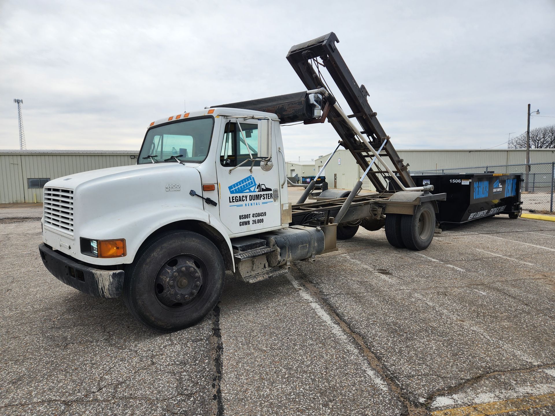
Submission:
<svg viewBox="0 0 555 416">
<path fill-rule="evenodd" d="M 19 147 L 21 98 L 27 149 L 138 150 L 184 100 L 304 89 L 285 55 L 331 31 L 398 149 L 489 148 L 526 131 L 528 103 L 532 128 L 555 123 L 554 22 L 554 0 L 0 0 L 0 149 Z M 288 160 L 338 139 L 327 123 L 282 135 Z"/>
</svg>

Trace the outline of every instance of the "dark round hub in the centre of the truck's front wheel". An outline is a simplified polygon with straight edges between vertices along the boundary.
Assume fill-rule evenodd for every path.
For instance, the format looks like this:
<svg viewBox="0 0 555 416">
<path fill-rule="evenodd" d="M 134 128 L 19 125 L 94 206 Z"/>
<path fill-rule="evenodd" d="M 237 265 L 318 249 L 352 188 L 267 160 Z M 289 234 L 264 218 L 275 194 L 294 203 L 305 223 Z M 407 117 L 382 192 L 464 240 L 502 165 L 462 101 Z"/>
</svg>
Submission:
<svg viewBox="0 0 555 416">
<path fill-rule="evenodd" d="M 198 296 L 202 283 L 199 263 L 189 256 L 177 256 L 160 268 L 154 290 L 165 306 L 180 307 Z"/>
</svg>

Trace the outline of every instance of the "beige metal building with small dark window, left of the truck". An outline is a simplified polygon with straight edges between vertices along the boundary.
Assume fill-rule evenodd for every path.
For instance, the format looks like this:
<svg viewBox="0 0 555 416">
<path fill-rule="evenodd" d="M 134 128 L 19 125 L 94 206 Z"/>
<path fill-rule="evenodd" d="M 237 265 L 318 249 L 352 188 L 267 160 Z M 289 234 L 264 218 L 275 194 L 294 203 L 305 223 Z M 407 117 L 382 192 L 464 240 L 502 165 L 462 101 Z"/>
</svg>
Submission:
<svg viewBox="0 0 555 416">
<path fill-rule="evenodd" d="M 134 165 L 130 150 L 0 150 L 0 204 L 42 202 L 51 179 L 87 170 Z"/>
</svg>

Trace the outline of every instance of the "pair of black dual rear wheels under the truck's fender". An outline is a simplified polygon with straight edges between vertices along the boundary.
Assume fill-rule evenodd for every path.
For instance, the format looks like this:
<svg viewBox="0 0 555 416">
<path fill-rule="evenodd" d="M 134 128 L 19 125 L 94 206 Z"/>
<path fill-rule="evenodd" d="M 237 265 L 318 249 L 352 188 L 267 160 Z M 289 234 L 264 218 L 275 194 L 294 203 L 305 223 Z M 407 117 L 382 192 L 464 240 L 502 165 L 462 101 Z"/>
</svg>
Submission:
<svg viewBox="0 0 555 416">
<path fill-rule="evenodd" d="M 386 237 L 393 247 L 425 250 L 432 242 L 435 228 L 436 212 L 431 202 L 418 206 L 414 215 L 386 215 Z"/>
</svg>

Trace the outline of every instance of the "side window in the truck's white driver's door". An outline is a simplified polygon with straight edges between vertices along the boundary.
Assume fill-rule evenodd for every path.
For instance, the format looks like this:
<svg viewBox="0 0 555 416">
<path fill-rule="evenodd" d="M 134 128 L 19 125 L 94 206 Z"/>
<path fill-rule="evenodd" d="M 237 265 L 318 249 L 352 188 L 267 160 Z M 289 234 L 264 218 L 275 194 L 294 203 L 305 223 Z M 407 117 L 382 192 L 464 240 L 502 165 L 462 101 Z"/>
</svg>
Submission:
<svg viewBox="0 0 555 416">
<path fill-rule="evenodd" d="M 241 130 L 243 133 L 241 134 Z M 250 154 L 249 154 L 250 150 Z M 220 163 L 222 166 L 237 166 L 240 163 L 258 157 L 258 124 L 229 122 L 225 125 L 224 140 L 220 151 Z M 251 162 L 246 162 L 243 166 L 250 166 Z M 254 163 L 260 166 L 260 161 Z"/>
</svg>

